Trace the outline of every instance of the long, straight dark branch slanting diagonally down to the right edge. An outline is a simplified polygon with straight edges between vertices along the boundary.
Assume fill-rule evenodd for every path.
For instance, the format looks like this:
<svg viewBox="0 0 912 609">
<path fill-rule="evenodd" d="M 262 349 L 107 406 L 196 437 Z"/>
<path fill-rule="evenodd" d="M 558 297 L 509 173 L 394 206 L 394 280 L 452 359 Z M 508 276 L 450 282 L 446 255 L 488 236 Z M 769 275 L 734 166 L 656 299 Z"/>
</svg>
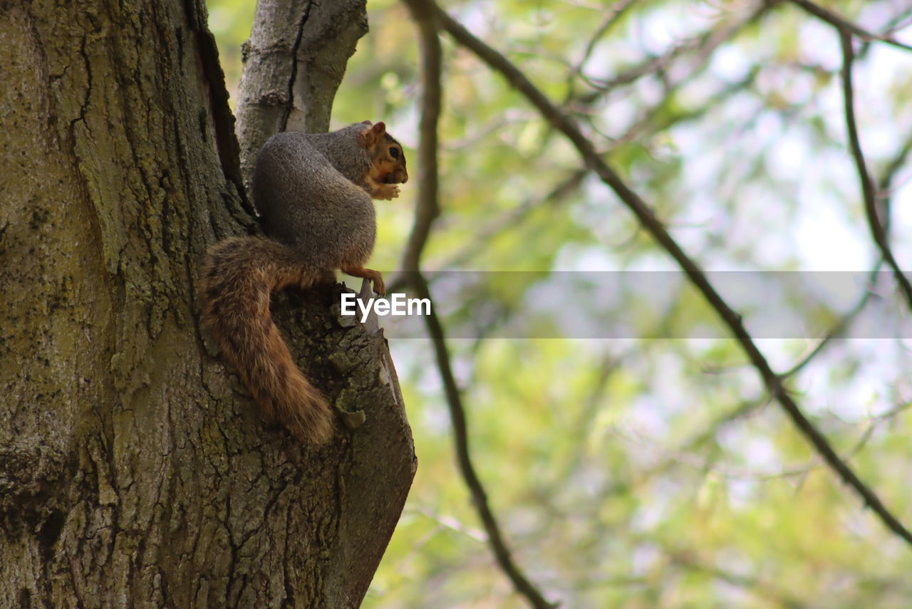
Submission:
<svg viewBox="0 0 912 609">
<path fill-rule="evenodd" d="M 422 0 L 432 3 L 432 0 Z M 548 120 L 555 129 L 564 133 L 575 146 L 577 152 L 586 162 L 586 166 L 595 171 L 601 180 L 617 194 L 617 197 L 627 205 L 627 208 L 637 216 L 639 222 L 646 228 L 658 244 L 678 263 L 679 267 L 688 275 L 690 282 L 703 294 L 710 306 L 715 309 L 722 322 L 729 327 L 731 334 L 741 345 L 744 353 L 748 356 L 751 364 L 757 369 L 762 377 L 764 386 L 770 392 L 772 397 L 782 406 L 793 424 L 814 446 L 814 449 L 821 455 L 824 461 L 832 468 L 836 474 L 851 486 L 855 492 L 862 498 L 865 505 L 874 511 L 878 518 L 885 524 L 886 528 L 904 541 L 912 545 L 912 532 L 909 532 L 896 517 L 886 509 L 883 502 L 877 497 L 876 493 L 869 489 L 865 483 L 858 478 L 853 471 L 830 446 L 829 441 L 824 435 L 814 427 L 814 424 L 804 416 L 801 408 L 793 400 L 788 390 L 785 388 L 782 378 L 772 371 L 772 367 L 766 361 L 759 348 L 754 344 L 751 335 L 741 320 L 741 315 L 735 313 L 726 303 L 716 289 L 710 284 L 706 274 L 700 269 L 687 253 L 680 248 L 679 244 L 668 234 L 665 226 L 658 221 L 652 209 L 646 201 L 634 191 L 630 190 L 627 183 L 612 170 L 596 152 L 595 146 L 579 129 L 574 119 L 565 115 L 559 108 L 554 106 L 550 99 L 534 86 L 534 84 L 523 75 L 517 67 L 491 46 L 487 46 L 480 39 L 472 36 L 465 27 L 461 26 L 450 15 L 447 15 L 440 7 L 437 7 L 437 15 L 440 19 L 440 26 L 443 27 L 459 44 L 467 47 L 477 57 L 481 58 L 493 70 L 501 73 L 507 81 L 516 88 L 530 103 L 538 108 L 544 119 Z"/>
</svg>

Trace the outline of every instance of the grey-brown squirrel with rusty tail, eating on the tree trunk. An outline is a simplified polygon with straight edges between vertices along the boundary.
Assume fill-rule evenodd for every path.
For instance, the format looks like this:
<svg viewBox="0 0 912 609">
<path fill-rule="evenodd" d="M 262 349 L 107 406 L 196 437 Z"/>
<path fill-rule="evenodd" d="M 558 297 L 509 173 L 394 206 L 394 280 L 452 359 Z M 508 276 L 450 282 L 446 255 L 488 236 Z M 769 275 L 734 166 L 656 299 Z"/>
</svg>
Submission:
<svg viewBox="0 0 912 609">
<path fill-rule="evenodd" d="M 397 184 L 408 180 L 402 146 L 382 122 L 278 133 L 254 164 L 254 204 L 267 238 L 233 237 L 209 248 L 202 320 L 264 418 L 306 444 L 332 437 L 332 408 L 295 365 L 270 315 L 270 296 L 333 283 L 337 269 L 385 294 L 383 277 L 364 267 L 377 235 L 370 200 L 398 197 Z"/>
</svg>

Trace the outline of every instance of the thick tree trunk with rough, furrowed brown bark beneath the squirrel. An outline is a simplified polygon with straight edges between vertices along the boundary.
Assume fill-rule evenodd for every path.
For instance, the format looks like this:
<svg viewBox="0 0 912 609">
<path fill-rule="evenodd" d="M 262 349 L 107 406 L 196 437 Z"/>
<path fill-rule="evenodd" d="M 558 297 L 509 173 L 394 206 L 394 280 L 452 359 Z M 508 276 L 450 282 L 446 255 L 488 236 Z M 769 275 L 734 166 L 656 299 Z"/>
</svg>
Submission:
<svg viewBox="0 0 912 609">
<path fill-rule="evenodd" d="M 363 411 L 332 446 L 212 353 L 202 255 L 254 222 L 202 0 L 7 0 L 0 36 L 0 606 L 358 606 L 414 474 L 399 387 L 339 288 L 274 311 Z"/>
</svg>

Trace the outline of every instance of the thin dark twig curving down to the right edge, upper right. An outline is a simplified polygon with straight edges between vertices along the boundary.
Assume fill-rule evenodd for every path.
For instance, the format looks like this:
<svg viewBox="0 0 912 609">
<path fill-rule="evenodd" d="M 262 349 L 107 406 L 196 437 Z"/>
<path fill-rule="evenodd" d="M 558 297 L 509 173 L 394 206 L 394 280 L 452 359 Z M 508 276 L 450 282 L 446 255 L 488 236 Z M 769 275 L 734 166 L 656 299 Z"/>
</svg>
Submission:
<svg viewBox="0 0 912 609">
<path fill-rule="evenodd" d="M 852 50 L 852 34 L 845 29 L 839 30 L 839 40 L 843 46 L 843 99 L 845 100 L 845 130 L 848 132 L 849 148 L 852 150 L 852 158 L 855 160 L 855 168 L 858 170 L 858 181 L 861 182 L 861 192 L 865 199 L 865 216 L 867 217 L 867 226 L 871 230 L 871 236 L 874 243 L 880 249 L 880 254 L 884 258 L 886 265 L 893 270 L 896 277 L 896 283 L 906 294 L 908 305 L 912 308 L 912 284 L 899 268 L 896 258 L 890 250 L 890 244 L 886 239 L 884 224 L 877 215 L 877 192 L 874 181 L 871 180 L 871 174 L 867 171 L 865 155 L 861 150 L 861 141 L 858 139 L 858 125 L 855 122 L 855 89 L 852 86 L 852 62 L 855 59 L 855 53 Z"/>
</svg>

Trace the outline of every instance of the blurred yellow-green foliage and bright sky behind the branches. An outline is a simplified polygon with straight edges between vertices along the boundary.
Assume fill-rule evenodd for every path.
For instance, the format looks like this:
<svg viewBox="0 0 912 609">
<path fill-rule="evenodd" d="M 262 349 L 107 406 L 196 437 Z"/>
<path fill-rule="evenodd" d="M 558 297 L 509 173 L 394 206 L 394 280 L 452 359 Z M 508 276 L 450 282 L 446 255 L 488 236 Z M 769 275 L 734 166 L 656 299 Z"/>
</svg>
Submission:
<svg viewBox="0 0 912 609">
<path fill-rule="evenodd" d="M 912 39 L 905 3 L 820 4 Z M 253 5 L 209 6 L 233 87 Z M 876 263 L 845 146 L 831 26 L 790 3 L 745 0 L 446 8 L 582 122 L 705 268 L 862 272 Z M 414 158 L 415 28 L 392 0 L 368 10 L 371 32 L 349 63 L 334 125 L 386 120 Z M 533 272 L 507 282 L 482 275 L 438 302 L 451 334 L 471 336 L 450 346 L 472 456 L 530 578 L 574 608 L 909 606 L 910 548 L 822 466 L 738 346 L 711 337 L 724 335 L 720 324 L 686 284 L 658 319 L 636 291 L 614 303 L 615 313 L 639 315 L 628 336 L 511 333 L 552 274 L 674 266 L 503 78 L 443 39 L 443 212 L 424 261 L 430 270 Z M 857 54 L 863 145 L 876 178 L 898 161 L 884 202 L 908 266 L 912 170 L 900 152 L 912 137 L 912 53 L 864 44 Z M 379 269 L 396 268 L 409 234 L 413 184 L 403 191 L 378 204 Z M 829 327 L 863 292 L 783 298 L 809 326 Z M 874 318 L 885 324 L 891 294 L 889 281 L 878 284 L 883 317 L 878 309 Z M 585 291 L 563 297 L 615 315 Z M 759 344 L 784 371 L 819 334 Z M 430 345 L 393 335 L 390 346 L 420 466 L 364 606 L 525 606 L 496 568 L 456 470 Z M 907 526 L 909 346 L 901 328 L 893 339 L 837 339 L 790 379 L 815 424 Z"/>
</svg>

